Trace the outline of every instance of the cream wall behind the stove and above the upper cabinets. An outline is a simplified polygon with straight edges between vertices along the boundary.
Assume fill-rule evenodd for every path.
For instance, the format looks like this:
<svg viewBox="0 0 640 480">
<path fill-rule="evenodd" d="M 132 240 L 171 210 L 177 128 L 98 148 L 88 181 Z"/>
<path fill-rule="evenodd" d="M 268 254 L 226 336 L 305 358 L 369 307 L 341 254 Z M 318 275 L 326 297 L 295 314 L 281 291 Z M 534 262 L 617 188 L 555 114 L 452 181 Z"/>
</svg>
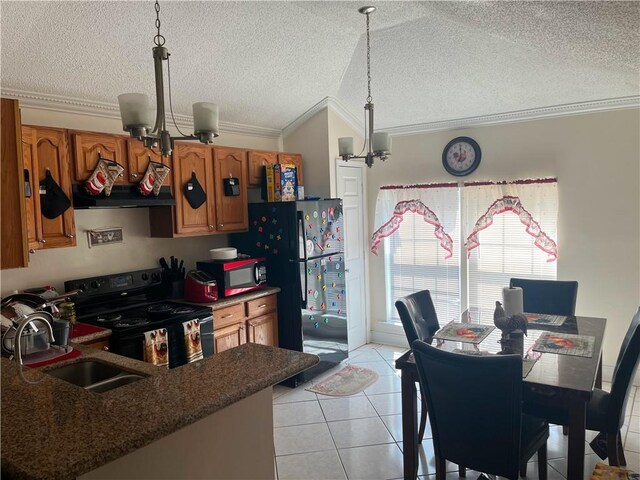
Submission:
<svg viewBox="0 0 640 480">
<path fill-rule="evenodd" d="M 49 110 L 21 109 L 24 125 L 42 125 L 73 128 L 105 133 L 122 134 L 119 119 L 91 115 L 53 112 Z M 279 150 L 280 138 L 253 137 L 221 132 L 216 144 Z M 76 210 L 76 247 L 38 250 L 29 256 L 28 268 L 2 270 L 0 294 L 14 289 L 52 285 L 63 291 L 63 282 L 75 278 L 108 273 L 153 268 L 159 266 L 162 256 L 174 255 L 185 260 L 187 269 L 195 268 L 196 260 L 205 259 L 209 249 L 225 246 L 226 235 L 210 235 L 193 238 L 159 239 L 149 237 L 148 208 Z M 122 227 L 123 244 L 89 248 L 87 230 L 104 227 Z"/>
</svg>

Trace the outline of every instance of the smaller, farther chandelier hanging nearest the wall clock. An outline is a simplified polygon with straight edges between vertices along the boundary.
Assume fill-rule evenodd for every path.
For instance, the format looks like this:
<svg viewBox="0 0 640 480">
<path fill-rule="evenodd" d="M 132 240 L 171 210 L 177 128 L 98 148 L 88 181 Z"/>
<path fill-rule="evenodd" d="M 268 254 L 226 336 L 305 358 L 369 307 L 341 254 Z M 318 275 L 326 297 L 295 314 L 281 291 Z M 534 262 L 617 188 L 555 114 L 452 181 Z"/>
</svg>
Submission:
<svg viewBox="0 0 640 480">
<path fill-rule="evenodd" d="M 391 138 L 388 133 L 376 132 L 373 133 L 373 98 L 371 97 L 371 48 L 369 46 L 369 15 L 376 11 L 376 7 L 360 7 L 358 12 L 366 15 L 367 17 L 367 89 L 369 95 L 367 96 L 367 103 L 364 105 L 365 111 L 365 129 L 364 129 L 364 146 L 367 149 L 367 154 L 354 155 L 353 154 L 353 138 L 342 137 L 338 139 L 338 150 L 340 156 L 346 162 L 351 158 L 364 158 L 365 163 L 369 168 L 373 165 L 373 160 L 379 158 L 382 161 L 386 160 L 391 154 Z"/>
</svg>

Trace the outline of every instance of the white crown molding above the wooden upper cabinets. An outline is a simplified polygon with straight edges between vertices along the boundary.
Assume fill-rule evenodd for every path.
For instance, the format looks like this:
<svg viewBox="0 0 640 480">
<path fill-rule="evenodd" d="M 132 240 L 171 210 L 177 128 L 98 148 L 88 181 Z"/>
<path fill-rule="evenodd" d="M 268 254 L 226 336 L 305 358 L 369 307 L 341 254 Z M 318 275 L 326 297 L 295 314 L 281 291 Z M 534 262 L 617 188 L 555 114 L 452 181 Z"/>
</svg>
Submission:
<svg viewBox="0 0 640 480">
<path fill-rule="evenodd" d="M 120 109 L 118 105 L 112 103 L 87 101 L 63 95 L 50 95 L 10 88 L 2 88 L 1 95 L 7 98 L 18 99 L 20 105 L 27 108 L 120 119 Z M 174 117 L 178 128 L 193 129 L 193 119 L 190 116 L 174 114 Z M 167 118 L 169 119 L 170 117 Z M 220 131 L 267 138 L 279 138 L 282 134 L 280 130 L 275 128 L 256 127 L 231 122 L 220 122 Z"/>
</svg>

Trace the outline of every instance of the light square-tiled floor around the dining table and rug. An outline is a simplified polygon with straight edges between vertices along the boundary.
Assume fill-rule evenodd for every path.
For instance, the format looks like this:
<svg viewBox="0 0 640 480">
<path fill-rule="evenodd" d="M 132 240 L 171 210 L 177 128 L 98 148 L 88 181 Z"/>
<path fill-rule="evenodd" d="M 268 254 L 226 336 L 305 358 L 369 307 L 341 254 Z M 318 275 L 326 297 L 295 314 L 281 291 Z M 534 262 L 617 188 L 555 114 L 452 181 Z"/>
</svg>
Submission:
<svg viewBox="0 0 640 480">
<path fill-rule="evenodd" d="M 378 381 L 349 397 L 329 397 L 305 390 L 276 386 L 273 390 L 274 442 L 279 480 L 400 479 L 402 478 L 402 422 L 400 376 L 394 360 L 405 349 L 368 344 L 351 352 L 346 363 L 378 372 Z M 336 369 L 326 372 L 331 375 Z M 318 381 L 320 378 L 315 379 Z M 608 388 L 607 385 L 604 388 Z M 418 403 L 418 405 L 420 405 Z M 547 443 L 548 478 L 566 476 L 567 437 L 552 426 Z M 632 388 L 623 428 L 628 468 L 640 472 L 640 392 Z M 594 433 L 587 432 L 587 442 Z M 433 443 L 427 431 L 420 447 L 420 479 L 435 478 Z M 589 445 L 585 448 L 585 479 L 600 459 Z M 527 478 L 537 479 L 530 462 Z M 447 479 L 458 478 L 457 466 L 448 464 Z M 467 478 L 478 473 L 467 471 Z"/>
</svg>

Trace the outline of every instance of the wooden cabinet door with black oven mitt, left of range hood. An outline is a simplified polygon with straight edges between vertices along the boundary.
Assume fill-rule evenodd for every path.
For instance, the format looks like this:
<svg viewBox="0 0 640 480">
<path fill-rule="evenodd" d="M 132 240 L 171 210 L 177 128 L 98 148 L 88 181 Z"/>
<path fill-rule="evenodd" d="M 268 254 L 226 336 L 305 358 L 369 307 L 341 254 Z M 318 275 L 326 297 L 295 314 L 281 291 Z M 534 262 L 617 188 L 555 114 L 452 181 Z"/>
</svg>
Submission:
<svg viewBox="0 0 640 480">
<path fill-rule="evenodd" d="M 53 219 L 40 213 L 39 185 L 44 181 L 47 171 L 69 200 L 72 199 L 67 131 L 60 128 L 23 126 L 22 160 L 31 187 L 31 197 L 25 199 L 29 249 L 75 246 L 73 207 Z"/>
</svg>

